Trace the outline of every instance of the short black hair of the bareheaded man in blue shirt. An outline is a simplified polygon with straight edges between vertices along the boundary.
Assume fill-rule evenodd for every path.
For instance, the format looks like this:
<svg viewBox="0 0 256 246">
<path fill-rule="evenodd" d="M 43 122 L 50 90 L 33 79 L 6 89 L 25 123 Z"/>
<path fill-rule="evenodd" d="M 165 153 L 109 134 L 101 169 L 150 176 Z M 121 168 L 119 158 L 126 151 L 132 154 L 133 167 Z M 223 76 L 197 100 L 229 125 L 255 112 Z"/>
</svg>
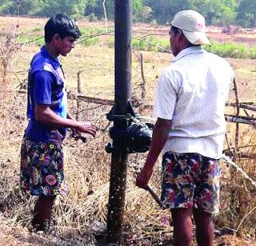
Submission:
<svg viewBox="0 0 256 246">
<path fill-rule="evenodd" d="M 57 14 L 46 22 L 45 41 L 50 42 L 54 34 L 59 34 L 61 38 L 72 36 L 75 39 L 81 36 L 81 32 L 74 20 L 65 14 Z"/>
</svg>

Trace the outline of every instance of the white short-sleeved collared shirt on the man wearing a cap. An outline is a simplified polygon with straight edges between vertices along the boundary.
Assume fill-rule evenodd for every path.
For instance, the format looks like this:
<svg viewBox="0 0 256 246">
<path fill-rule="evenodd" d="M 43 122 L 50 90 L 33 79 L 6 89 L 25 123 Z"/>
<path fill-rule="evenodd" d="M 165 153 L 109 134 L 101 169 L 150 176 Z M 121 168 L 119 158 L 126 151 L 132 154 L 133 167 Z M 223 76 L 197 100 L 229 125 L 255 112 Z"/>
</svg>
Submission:
<svg viewBox="0 0 256 246">
<path fill-rule="evenodd" d="M 163 153 L 222 157 L 225 102 L 234 71 L 225 59 L 200 46 L 182 50 L 158 81 L 154 115 L 171 120 Z"/>
</svg>

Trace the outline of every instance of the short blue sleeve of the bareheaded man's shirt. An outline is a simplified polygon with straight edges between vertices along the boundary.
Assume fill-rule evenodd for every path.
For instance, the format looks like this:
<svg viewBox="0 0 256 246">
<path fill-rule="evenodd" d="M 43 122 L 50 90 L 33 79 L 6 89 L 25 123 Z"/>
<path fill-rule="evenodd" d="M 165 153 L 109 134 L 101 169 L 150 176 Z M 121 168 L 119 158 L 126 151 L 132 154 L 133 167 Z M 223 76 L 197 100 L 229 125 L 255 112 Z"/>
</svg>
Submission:
<svg viewBox="0 0 256 246">
<path fill-rule="evenodd" d="M 50 72 L 38 71 L 34 73 L 34 104 L 52 104 L 52 85 L 54 78 Z"/>
</svg>

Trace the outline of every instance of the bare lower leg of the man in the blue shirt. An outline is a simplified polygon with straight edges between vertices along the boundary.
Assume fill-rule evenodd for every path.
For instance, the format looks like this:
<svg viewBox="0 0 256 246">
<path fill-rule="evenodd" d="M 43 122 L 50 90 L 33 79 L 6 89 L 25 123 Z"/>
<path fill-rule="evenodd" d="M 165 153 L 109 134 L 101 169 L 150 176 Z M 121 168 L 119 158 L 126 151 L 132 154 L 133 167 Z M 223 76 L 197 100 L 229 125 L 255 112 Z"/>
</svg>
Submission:
<svg viewBox="0 0 256 246">
<path fill-rule="evenodd" d="M 34 206 L 32 225 L 35 230 L 47 231 L 50 226 L 51 211 L 56 196 L 39 196 Z"/>
</svg>

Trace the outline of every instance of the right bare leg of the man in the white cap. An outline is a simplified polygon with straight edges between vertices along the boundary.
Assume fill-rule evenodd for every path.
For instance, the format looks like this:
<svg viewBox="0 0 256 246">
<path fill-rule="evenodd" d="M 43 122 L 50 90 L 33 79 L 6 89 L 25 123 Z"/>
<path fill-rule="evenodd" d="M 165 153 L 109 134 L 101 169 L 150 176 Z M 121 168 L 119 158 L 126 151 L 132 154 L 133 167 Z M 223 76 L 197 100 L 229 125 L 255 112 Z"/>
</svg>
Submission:
<svg viewBox="0 0 256 246">
<path fill-rule="evenodd" d="M 196 237 L 198 246 L 214 245 L 214 223 L 210 213 L 202 209 L 193 210 L 194 222 L 196 225 Z"/>
</svg>

